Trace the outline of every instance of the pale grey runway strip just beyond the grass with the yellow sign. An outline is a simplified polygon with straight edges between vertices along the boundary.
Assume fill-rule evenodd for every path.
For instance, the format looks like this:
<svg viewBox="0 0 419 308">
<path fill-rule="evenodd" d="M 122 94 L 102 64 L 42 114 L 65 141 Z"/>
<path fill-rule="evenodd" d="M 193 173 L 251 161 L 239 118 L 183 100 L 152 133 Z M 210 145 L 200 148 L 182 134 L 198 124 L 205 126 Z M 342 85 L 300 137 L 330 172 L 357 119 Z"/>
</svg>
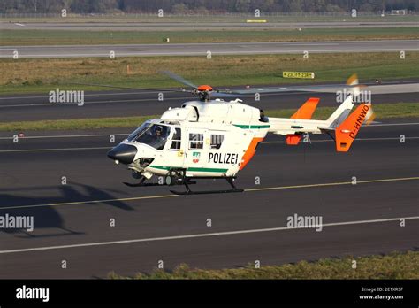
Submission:
<svg viewBox="0 0 419 308">
<path fill-rule="evenodd" d="M 2 46 L 0 58 L 80 58 L 155 57 L 302 54 L 310 52 L 400 52 L 419 50 L 418 40 L 380 41 L 328 41 L 328 42 L 220 42 L 220 43 L 167 43 L 167 44 L 108 44 L 108 45 L 59 45 L 59 46 Z"/>
</svg>

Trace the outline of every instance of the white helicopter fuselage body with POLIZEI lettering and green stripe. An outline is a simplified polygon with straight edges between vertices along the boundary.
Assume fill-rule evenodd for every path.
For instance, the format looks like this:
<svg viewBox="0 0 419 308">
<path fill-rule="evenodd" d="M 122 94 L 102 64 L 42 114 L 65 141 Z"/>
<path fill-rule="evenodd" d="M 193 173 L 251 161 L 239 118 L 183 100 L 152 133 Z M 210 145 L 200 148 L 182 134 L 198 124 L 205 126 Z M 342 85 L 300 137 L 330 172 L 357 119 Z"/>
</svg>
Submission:
<svg viewBox="0 0 419 308">
<path fill-rule="evenodd" d="M 146 122 L 169 131 L 162 149 L 129 137 L 121 143 L 137 149 L 128 167 L 146 178 L 171 170 L 184 170 L 187 177 L 230 177 L 246 166 L 268 133 L 270 124 L 260 117 L 259 109 L 237 101 L 192 101 Z M 153 160 L 141 166 L 141 158 Z"/>
</svg>

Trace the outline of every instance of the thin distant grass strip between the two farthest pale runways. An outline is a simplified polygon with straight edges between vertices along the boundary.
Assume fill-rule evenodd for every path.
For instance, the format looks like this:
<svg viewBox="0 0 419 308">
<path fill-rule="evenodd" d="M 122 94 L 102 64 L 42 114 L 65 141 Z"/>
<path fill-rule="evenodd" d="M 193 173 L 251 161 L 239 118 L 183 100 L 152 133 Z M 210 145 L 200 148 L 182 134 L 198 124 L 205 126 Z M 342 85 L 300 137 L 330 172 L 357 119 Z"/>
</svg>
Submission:
<svg viewBox="0 0 419 308">
<path fill-rule="evenodd" d="M 125 27 L 129 27 L 125 26 Z M 94 29 L 92 27 L 92 29 Z M 392 28 L 308 28 L 248 30 L 147 30 L 133 27 L 133 31 L 72 31 L 72 30 L 0 30 L 0 45 L 61 45 L 61 44 L 124 44 L 179 42 L 303 42 L 419 39 L 419 27 Z"/>
</svg>

